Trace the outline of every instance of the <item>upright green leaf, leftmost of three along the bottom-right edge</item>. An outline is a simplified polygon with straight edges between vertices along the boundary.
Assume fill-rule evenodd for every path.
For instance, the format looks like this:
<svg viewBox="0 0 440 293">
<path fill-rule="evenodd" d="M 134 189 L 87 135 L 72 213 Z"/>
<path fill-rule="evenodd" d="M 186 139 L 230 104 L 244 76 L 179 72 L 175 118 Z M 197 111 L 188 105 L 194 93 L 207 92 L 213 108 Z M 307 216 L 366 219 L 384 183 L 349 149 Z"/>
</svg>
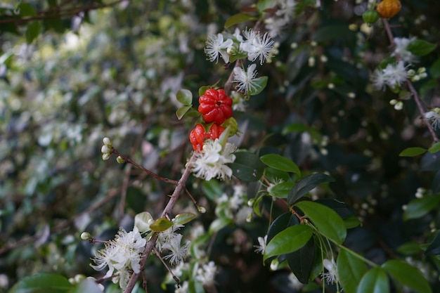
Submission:
<svg viewBox="0 0 440 293">
<path fill-rule="evenodd" d="M 344 292 L 356 293 L 362 276 L 368 271 L 367 266 L 361 259 L 350 254 L 346 249 L 341 249 L 337 256 L 337 275 Z"/>
</svg>

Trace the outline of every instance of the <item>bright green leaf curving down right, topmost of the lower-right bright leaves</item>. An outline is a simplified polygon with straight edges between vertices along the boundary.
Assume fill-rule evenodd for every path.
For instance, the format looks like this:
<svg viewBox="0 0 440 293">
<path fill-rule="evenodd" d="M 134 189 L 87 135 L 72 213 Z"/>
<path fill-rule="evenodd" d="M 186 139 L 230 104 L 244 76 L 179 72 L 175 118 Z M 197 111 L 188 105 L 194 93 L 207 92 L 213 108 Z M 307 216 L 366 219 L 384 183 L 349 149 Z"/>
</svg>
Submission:
<svg viewBox="0 0 440 293">
<path fill-rule="evenodd" d="M 336 211 L 323 204 L 308 200 L 297 202 L 295 206 L 304 211 L 319 233 L 337 244 L 344 242 L 347 237 L 347 229 Z"/>
</svg>

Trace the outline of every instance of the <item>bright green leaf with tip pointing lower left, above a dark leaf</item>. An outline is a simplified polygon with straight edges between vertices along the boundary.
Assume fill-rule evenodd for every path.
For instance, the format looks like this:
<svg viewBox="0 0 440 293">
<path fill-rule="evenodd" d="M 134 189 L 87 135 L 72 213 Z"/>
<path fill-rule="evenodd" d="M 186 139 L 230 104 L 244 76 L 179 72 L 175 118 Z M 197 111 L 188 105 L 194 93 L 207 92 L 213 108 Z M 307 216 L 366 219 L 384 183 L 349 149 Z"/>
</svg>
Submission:
<svg viewBox="0 0 440 293">
<path fill-rule="evenodd" d="M 264 249 L 264 260 L 271 256 L 288 254 L 303 247 L 313 235 L 313 229 L 306 225 L 290 226 L 275 235 Z"/>
</svg>

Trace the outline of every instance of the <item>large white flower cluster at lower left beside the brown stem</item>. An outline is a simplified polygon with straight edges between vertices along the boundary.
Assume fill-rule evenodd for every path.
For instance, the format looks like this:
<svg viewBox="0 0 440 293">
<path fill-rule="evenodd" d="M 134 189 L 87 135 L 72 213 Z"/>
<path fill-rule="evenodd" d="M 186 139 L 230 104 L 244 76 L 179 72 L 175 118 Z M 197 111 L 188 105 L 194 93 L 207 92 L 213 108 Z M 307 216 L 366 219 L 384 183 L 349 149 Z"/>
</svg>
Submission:
<svg viewBox="0 0 440 293">
<path fill-rule="evenodd" d="M 141 271 L 141 253 L 146 240 L 139 233 L 138 228 L 127 233 L 120 228 L 115 239 L 105 243 L 103 249 L 96 252 L 93 261 L 96 265 L 91 265 L 97 271 L 101 271 L 108 266 L 108 272 L 104 278 L 112 278 L 114 283 L 119 282 L 119 287 L 124 288 L 131 276 L 131 272 Z"/>
</svg>

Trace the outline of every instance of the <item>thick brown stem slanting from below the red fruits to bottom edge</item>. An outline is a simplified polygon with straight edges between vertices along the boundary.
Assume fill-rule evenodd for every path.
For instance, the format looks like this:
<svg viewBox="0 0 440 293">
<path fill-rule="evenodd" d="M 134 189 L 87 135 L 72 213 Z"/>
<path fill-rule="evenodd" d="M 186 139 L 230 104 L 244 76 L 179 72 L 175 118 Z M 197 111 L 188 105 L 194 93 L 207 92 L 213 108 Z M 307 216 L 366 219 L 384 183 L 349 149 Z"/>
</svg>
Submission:
<svg viewBox="0 0 440 293">
<path fill-rule="evenodd" d="M 193 153 L 193 156 L 190 158 L 185 171 L 183 172 L 180 180 L 178 181 L 178 183 L 176 185 L 176 189 L 174 189 L 174 193 L 172 194 L 171 198 L 169 199 L 169 202 L 168 202 L 167 206 L 164 208 L 164 211 L 162 211 L 162 217 L 165 217 L 166 215 L 172 213 L 172 210 L 174 209 L 174 206 L 176 205 L 176 202 L 179 199 L 179 196 L 181 195 L 182 191 L 185 190 L 186 181 L 188 181 L 188 178 L 191 174 L 192 164 L 193 164 L 194 158 L 195 158 L 195 155 Z M 141 269 L 145 268 L 145 263 L 147 263 L 148 256 L 155 248 L 157 237 L 159 237 L 159 234 L 153 233 L 150 240 L 148 240 L 148 242 L 146 243 L 145 249 L 143 250 L 143 257 L 140 262 Z M 140 275 L 141 275 L 141 272 L 140 273 L 133 273 L 133 275 L 131 275 L 131 278 L 129 280 L 129 284 L 124 289 L 124 293 L 130 293 L 133 290 L 134 285 L 136 285 L 136 282 L 138 281 L 138 278 L 140 277 Z"/>
</svg>

